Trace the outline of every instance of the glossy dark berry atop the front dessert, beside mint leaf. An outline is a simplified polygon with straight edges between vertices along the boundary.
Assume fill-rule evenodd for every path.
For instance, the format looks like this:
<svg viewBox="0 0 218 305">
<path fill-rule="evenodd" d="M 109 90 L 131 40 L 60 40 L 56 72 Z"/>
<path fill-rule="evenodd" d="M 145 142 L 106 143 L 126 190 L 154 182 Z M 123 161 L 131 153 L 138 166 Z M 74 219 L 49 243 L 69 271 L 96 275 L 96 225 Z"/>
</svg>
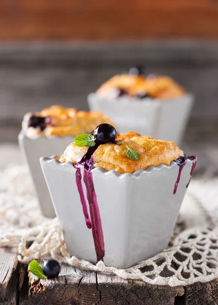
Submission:
<svg viewBox="0 0 218 305">
<path fill-rule="evenodd" d="M 110 124 L 100 124 L 91 132 L 96 137 L 97 144 L 114 143 L 116 139 L 116 129 Z"/>
</svg>

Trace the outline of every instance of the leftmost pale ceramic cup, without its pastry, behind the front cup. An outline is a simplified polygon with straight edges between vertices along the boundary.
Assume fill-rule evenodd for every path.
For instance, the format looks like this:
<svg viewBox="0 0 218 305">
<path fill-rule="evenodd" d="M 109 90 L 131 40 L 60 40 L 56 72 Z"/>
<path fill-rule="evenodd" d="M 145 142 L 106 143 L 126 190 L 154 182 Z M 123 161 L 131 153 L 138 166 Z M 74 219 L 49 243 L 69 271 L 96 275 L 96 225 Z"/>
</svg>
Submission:
<svg viewBox="0 0 218 305">
<path fill-rule="evenodd" d="M 30 173 L 34 182 L 42 214 L 48 218 L 56 217 L 52 201 L 47 189 L 47 185 L 42 173 L 39 159 L 42 156 L 51 156 L 63 154 L 65 148 L 74 141 L 74 137 L 49 138 L 38 136 L 34 139 L 26 137 L 21 131 L 18 136 L 18 142 L 22 154 L 28 163 Z"/>
</svg>

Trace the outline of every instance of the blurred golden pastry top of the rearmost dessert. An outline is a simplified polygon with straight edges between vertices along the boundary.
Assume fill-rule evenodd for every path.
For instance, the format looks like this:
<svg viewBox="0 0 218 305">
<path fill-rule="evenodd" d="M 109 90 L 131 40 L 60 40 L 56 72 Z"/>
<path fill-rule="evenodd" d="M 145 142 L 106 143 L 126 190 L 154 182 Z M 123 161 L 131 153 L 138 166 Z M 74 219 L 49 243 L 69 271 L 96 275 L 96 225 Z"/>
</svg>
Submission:
<svg viewBox="0 0 218 305">
<path fill-rule="evenodd" d="M 177 98 L 184 95 L 185 90 L 168 76 L 144 76 L 119 74 L 107 80 L 96 91 L 100 98 L 117 98 L 119 89 L 130 97 L 147 94 L 151 98 L 160 100 Z"/>
</svg>

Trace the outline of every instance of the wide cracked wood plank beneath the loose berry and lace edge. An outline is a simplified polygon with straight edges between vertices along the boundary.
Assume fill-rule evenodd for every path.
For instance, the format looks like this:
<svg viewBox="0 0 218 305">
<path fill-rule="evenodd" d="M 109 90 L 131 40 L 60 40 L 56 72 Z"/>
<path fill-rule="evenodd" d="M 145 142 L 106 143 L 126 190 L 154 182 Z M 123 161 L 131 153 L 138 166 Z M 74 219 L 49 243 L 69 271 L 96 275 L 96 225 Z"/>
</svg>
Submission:
<svg viewBox="0 0 218 305">
<path fill-rule="evenodd" d="M 21 299 L 20 305 L 173 305 L 175 297 L 183 293 L 181 286 L 148 285 L 63 264 L 57 279 L 39 280 L 30 274 L 29 297 Z"/>
</svg>

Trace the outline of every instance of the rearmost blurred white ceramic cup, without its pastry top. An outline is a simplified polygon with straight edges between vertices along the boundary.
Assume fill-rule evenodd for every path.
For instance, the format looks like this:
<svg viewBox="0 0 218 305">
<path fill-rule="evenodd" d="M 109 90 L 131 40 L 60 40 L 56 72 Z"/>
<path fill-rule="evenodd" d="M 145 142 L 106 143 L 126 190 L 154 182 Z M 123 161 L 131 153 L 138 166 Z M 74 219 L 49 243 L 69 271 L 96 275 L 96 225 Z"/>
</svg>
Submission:
<svg viewBox="0 0 218 305">
<path fill-rule="evenodd" d="M 170 100 L 138 100 L 123 96 L 119 99 L 88 96 L 91 110 L 98 110 L 111 117 L 120 134 L 130 130 L 155 139 L 181 144 L 187 119 L 194 103 L 191 94 Z"/>
</svg>

